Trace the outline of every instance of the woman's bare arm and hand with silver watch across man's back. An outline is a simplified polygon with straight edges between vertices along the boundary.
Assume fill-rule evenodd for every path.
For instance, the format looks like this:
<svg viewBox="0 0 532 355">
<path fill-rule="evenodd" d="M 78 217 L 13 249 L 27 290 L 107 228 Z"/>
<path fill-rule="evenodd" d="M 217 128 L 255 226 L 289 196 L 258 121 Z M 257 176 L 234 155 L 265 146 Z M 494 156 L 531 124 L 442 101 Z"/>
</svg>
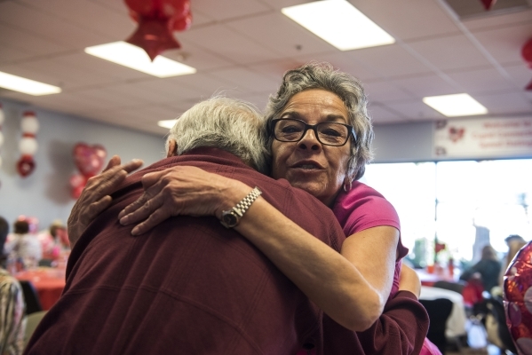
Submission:
<svg viewBox="0 0 532 355">
<path fill-rule="evenodd" d="M 193 167 L 145 175 L 145 194 L 120 213 L 133 234 L 178 215 L 221 216 L 251 191 L 242 182 Z M 193 203 L 194 201 L 194 203 Z M 339 324 L 370 327 L 389 296 L 399 232 L 378 226 L 355 233 L 341 254 L 314 238 L 259 197 L 235 230 L 257 246 L 306 296 Z"/>
</svg>

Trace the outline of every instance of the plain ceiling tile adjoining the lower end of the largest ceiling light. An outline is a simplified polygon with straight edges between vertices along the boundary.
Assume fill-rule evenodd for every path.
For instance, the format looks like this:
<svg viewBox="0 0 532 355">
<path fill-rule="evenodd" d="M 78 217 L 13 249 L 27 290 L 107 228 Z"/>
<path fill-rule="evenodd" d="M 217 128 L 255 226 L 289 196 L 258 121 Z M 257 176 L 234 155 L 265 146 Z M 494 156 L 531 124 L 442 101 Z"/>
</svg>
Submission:
<svg viewBox="0 0 532 355">
<path fill-rule="evenodd" d="M 399 44 L 346 51 L 345 57 L 357 60 L 384 77 L 426 74 L 431 70 Z"/>
</svg>

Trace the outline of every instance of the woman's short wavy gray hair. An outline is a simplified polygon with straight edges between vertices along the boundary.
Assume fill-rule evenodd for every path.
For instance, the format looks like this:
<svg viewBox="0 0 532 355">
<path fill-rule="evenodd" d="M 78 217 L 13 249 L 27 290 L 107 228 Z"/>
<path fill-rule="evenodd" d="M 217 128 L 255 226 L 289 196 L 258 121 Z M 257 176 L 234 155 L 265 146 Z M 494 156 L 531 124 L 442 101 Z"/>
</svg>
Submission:
<svg viewBox="0 0 532 355">
<path fill-rule="evenodd" d="M 364 175 L 366 164 L 373 158 L 371 142 L 374 134 L 368 114 L 368 98 L 361 82 L 352 75 L 335 70 L 329 63 L 314 61 L 289 70 L 284 74 L 277 93 L 270 95 L 266 106 L 267 127 L 279 117 L 292 96 L 309 89 L 333 92 L 344 102 L 349 114 L 349 124 L 356 134 L 356 142 L 351 145 L 347 177 L 358 180 Z M 270 135 L 268 146 L 272 145 L 273 140 L 274 137 Z"/>
</svg>

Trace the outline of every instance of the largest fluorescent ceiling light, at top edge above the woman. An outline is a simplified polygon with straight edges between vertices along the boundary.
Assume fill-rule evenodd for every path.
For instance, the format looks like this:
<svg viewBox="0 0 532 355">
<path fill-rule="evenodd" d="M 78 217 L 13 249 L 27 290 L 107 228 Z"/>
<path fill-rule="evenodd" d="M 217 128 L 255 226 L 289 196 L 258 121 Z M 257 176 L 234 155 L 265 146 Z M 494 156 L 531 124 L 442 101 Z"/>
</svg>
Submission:
<svg viewBox="0 0 532 355">
<path fill-rule="evenodd" d="M 395 43 L 393 36 L 345 0 L 316 1 L 281 12 L 340 51 Z"/>
</svg>

